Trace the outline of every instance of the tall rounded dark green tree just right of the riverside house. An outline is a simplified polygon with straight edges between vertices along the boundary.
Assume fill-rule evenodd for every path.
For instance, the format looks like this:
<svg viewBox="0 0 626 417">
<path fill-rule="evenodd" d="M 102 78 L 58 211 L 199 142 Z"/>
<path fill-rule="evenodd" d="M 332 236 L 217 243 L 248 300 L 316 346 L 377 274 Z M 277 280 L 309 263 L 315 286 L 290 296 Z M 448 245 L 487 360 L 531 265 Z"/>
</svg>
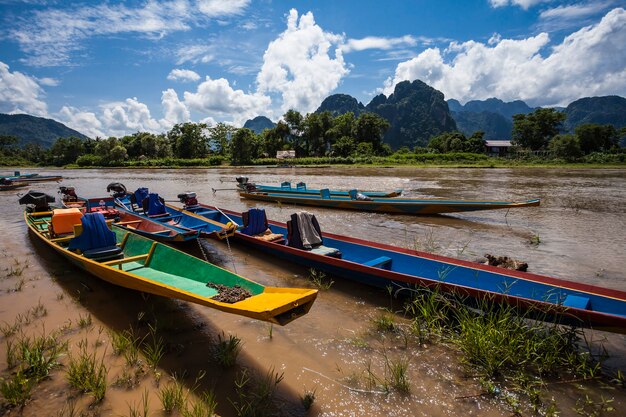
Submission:
<svg viewBox="0 0 626 417">
<path fill-rule="evenodd" d="M 537 109 L 513 116 L 513 144 L 532 150 L 545 149 L 561 128 L 565 113 L 555 109 Z"/>
</svg>

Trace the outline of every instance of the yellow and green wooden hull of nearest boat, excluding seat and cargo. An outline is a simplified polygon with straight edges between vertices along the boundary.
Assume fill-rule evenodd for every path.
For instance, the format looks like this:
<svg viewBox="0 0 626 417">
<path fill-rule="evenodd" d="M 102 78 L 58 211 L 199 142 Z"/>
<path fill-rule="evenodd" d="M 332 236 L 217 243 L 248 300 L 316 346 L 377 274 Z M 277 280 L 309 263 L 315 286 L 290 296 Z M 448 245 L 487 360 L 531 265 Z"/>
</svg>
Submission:
<svg viewBox="0 0 626 417">
<path fill-rule="evenodd" d="M 184 252 L 113 226 L 122 259 L 96 261 L 68 249 L 74 234 L 52 238 L 53 212 L 24 213 L 30 231 L 73 264 L 112 284 L 163 297 L 190 301 L 227 313 L 284 325 L 306 314 L 317 291 L 264 287 Z M 75 228 L 76 230 L 76 228 Z M 78 232 L 75 232 L 78 233 Z M 207 286 L 239 286 L 250 296 L 234 303 L 217 301 L 219 291 Z"/>
</svg>

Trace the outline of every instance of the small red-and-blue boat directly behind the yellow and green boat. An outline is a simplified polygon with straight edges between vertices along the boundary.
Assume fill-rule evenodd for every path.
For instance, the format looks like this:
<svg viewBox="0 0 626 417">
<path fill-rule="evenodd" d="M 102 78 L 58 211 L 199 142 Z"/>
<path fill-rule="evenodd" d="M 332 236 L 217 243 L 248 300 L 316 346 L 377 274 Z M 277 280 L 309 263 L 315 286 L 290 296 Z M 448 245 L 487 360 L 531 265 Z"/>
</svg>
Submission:
<svg viewBox="0 0 626 417">
<path fill-rule="evenodd" d="M 113 220 L 116 226 L 149 237 L 159 242 L 185 242 L 197 239 L 196 229 L 172 226 L 145 216 L 120 210 L 113 197 L 84 198 L 77 196 L 74 187 L 59 187 L 63 208 L 77 208 L 83 213 L 102 213 L 105 219 Z M 183 216 L 183 215 L 179 215 Z"/>
</svg>

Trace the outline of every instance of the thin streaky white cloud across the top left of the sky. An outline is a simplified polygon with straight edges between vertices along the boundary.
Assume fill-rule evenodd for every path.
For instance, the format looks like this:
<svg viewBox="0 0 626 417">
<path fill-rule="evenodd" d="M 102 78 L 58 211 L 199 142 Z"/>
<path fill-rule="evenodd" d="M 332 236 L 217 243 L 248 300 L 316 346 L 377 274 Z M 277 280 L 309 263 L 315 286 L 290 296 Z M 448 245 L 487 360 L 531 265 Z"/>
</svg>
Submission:
<svg viewBox="0 0 626 417">
<path fill-rule="evenodd" d="M 43 8 L 15 22 L 9 35 L 27 54 L 24 61 L 28 64 L 65 65 L 88 38 L 118 34 L 160 38 L 190 30 L 206 18 L 238 15 L 248 4 L 248 0 L 148 0 L 136 7 L 101 3 Z"/>
</svg>

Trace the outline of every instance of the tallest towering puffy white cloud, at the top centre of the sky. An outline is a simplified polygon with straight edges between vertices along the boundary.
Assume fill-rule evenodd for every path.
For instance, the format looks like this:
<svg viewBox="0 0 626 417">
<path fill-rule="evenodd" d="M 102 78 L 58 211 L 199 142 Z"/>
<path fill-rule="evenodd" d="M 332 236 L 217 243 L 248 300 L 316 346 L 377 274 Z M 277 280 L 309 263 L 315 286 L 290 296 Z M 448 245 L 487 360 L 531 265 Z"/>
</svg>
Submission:
<svg viewBox="0 0 626 417">
<path fill-rule="evenodd" d="M 298 12 L 292 9 L 287 30 L 265 51 L 257 75 L 259 91 L 281 94 L 283 111 L 314 111 L 348 73 L 339 49 L 341 41 L 341 36 L 324 32 L 311 12 L 298 19 Z"/>
</svg>

